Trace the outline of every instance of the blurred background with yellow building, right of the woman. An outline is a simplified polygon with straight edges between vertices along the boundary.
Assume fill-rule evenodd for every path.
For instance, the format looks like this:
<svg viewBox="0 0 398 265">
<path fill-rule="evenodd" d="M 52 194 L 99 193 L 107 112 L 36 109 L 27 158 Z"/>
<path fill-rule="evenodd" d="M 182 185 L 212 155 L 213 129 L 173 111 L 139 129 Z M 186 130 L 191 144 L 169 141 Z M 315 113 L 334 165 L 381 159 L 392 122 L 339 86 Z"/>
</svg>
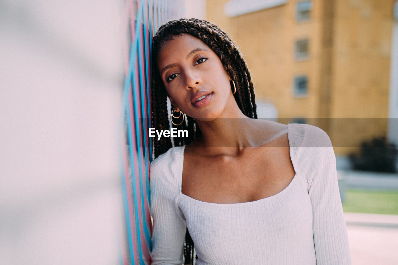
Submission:
<svg viewBox="0 0 398 265">
<path fill-rule="evenodd" d="M 398 264 L 398 1 L 207 0 L 258 117 L 328 133 L 353 264 Z"/>
</svg>

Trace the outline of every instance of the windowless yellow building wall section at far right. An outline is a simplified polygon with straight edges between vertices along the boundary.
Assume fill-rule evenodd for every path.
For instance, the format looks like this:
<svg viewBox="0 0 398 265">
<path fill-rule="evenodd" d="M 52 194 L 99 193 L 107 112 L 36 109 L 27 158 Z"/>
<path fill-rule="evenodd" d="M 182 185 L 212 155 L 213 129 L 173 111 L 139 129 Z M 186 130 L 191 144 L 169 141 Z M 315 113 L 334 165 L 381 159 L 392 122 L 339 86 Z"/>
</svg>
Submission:
<svg viewBox="0 0 398 265">
<path fill-rule="evenodd" d="M 336 120 L 331 137 L 345 139 L 339 146 L 387 134 L 393 4 L 335 1 L 330 117 L 351 118 Z"/>
</svg>

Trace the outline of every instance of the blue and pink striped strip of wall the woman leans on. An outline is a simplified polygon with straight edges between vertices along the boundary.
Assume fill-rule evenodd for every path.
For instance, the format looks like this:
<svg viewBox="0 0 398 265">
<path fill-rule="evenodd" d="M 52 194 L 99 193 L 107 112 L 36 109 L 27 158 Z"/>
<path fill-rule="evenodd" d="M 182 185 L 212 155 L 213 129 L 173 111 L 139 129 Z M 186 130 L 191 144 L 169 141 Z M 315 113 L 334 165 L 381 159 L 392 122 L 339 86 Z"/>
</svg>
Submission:
<svg viewBox="0 0 398 265">
<path fill-rule="evenodd" d="M 176 19 L 182 0 L 136 0 L 126 4 L 125 80 L 123 87 L 122 189 L 125 208 L 123 264 L 150 264 L 149 165 L 150 51 L 160 25 Z"/>
</svg>

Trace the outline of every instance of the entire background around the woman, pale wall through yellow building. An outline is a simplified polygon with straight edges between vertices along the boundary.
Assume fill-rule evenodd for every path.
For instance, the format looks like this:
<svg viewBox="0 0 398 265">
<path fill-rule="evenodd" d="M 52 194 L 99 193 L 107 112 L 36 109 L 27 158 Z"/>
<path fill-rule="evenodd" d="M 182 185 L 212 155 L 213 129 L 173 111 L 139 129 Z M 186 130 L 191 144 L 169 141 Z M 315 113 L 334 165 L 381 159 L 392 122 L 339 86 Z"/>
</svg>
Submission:
<svg viewBox="0 0 398 265">
<path fill-rule="evenodd" d="M 2 0 L 0 263 L 149 263 L 150 39 L 180 17 L 237 43 L 259 118 L 329 134 L 352 263 L 398 264 L 396 0 Z"/>
</svg>

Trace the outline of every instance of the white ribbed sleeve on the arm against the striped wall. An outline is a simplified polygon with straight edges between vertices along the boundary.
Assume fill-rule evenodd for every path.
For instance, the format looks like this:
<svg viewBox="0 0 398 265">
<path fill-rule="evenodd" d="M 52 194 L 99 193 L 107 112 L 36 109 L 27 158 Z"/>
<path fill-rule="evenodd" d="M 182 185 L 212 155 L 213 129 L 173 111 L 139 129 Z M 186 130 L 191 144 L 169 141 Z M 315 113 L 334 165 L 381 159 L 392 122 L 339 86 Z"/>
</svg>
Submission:
<svg viewBox="0 0 398 265">
<path fill-rule="evenodd" d="M 179 210 L 170 152 L 159 156 L 150 165 L 150 198 L 152 230 L 152 265 L 181 265 L 186 222 Z"/>
</svg>

